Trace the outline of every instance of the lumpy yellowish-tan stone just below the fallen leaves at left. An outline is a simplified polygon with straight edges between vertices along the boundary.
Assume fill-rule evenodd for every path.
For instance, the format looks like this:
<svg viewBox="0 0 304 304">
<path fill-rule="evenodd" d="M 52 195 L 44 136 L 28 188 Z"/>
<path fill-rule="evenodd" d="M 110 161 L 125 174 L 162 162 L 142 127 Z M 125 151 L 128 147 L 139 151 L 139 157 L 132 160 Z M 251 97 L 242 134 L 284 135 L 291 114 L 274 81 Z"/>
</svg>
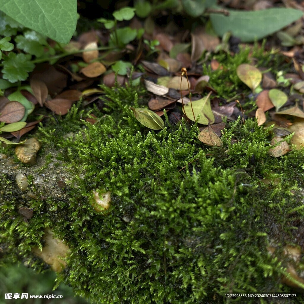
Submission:
<svg viewBox="0 0 304 304">
<path fill-rule="evenodd" d="M 41 145 L 36 138 L 30 138 L 24 144 L 15 148 L 15 154 L 22 163 L 34 165 L 40 147 Z"/>
</svg>

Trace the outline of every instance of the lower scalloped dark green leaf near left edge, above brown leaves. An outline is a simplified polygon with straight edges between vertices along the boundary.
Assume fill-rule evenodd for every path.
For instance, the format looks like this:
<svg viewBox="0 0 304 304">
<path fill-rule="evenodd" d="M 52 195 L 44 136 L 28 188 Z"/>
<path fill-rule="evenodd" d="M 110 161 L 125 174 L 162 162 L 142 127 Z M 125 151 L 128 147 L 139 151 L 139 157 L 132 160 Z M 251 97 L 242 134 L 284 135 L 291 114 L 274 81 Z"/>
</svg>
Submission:
<svg viewBox="0 0 304 304">
<path fill-rule="evenodd" d="M 26 80 L 29 72 L 33 71 L 35 64 L 30 62 L 31 55 L 9 53 L 3 60 L 3 78 L 9 82 Z"/>
</svg>

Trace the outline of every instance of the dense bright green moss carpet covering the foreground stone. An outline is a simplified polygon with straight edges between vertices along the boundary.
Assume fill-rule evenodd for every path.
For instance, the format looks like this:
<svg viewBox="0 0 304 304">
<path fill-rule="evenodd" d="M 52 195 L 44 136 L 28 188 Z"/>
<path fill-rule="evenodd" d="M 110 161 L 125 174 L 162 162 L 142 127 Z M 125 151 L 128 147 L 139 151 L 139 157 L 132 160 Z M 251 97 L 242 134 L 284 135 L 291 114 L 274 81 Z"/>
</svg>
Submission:
<svg viewBox="0 0 304 304">
<path fill-rule="evenodd" d="M 286 262 L 267 246 L 303 246 L 303 151 L 271 157 L 271 128 L 250 119 L 227 125 L 223 147 L 199 142 L 198 127 L 185 121 L 166 117 L 164 130 L 151 131 L 129 110 L 141 106 L 139 89 L 103 89 L 108 114 L 96 124 L 75 107 L 62 118 L 69 127 L 40 129 L 74 176 L 69 200 L 26 202 L 35 211 L 29 223 L 14 202 L 1 202 L 4 254 L 41 270 L 31 248 L 50 227 L 71 248 L 58 282 L 99 303 L 223 303 L 227 292 L 290 292 L 280 283 Z M 74 136 L 63 140 L 70 127 Z M 106 214 L 94 210 L 93 190 L 111 193 Z"/>
</svg>

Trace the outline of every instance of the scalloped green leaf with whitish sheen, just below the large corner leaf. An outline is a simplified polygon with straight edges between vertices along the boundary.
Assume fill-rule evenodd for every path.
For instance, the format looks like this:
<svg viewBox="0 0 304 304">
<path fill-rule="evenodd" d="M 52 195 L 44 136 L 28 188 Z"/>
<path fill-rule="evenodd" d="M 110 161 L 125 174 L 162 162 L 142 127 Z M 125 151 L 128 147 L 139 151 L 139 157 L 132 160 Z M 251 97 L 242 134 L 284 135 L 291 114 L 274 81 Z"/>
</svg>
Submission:
<svg viewBox="0 0 304 304">
<path fill-rule="evenodd" d="M 35 31 L 26 31 L 24 36 L 19 35 L 15 38 L 17 47 L 24 50 L 26 53 L 40 57 L 44 53 L 44 45 L 47 45 L 46 40 L 37 34 Z"/>
</svg>

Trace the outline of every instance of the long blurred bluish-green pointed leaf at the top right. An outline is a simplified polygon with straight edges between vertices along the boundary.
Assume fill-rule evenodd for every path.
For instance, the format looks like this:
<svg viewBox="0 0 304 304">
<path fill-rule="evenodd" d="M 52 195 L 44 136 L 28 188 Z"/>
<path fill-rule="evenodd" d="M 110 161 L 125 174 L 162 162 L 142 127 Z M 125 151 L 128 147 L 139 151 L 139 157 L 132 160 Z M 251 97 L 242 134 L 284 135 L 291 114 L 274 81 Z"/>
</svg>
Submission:
<svg viewBox="0 0 304 304">
<path fill-rule="evenodd" d="M 230 31 L 242 42 L 253 42 L 277 32 L 302 16 L 300 10 L 272 8 L 248 12 L 229 10 L 229 16 L 210 14 L 210 20 L 219 36 Z"/>
</svg>

